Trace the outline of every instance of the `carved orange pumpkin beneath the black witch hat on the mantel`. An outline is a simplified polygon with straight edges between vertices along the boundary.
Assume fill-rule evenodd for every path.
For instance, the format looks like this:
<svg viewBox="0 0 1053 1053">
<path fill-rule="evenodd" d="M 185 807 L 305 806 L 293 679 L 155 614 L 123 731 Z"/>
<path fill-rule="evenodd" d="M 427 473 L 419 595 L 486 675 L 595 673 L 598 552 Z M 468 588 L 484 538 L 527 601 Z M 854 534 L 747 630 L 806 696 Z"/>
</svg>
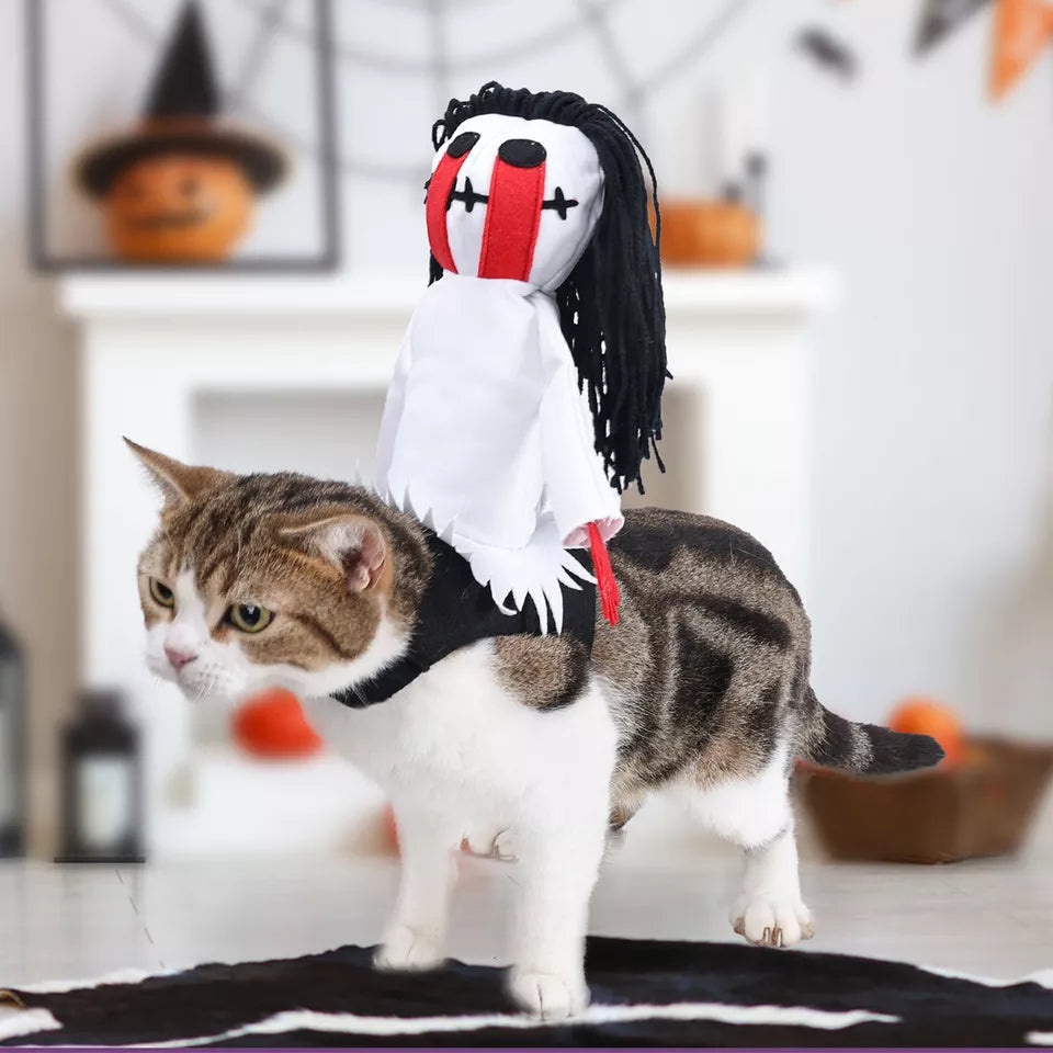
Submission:
<svg viewBox="0 0 1053 1053">
<path fill-rule="evenodd" d="M 114 179 L 106 228 L 125 260 L 214 261 L 240 240 L 253 207 L 252 185 L 229 158 L 159 154 Z"/>
</svg>

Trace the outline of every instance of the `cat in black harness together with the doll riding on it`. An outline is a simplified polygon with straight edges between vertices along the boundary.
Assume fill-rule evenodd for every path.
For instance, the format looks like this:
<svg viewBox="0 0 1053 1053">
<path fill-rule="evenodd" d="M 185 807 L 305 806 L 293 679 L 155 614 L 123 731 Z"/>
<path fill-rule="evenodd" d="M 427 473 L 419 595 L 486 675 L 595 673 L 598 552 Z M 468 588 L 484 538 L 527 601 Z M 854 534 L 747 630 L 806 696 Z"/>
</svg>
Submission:
<svg viewBox="0 0 1053 1053">
<path fill-rule="evenodd" d="M 618 532 L 666 375 L 624 125 L 577 95 L 490 84 L 451 103 L 434 138 L 437 280 L 385 411 L 386 500 L 131 444 L 165 495 L 138 564 L 147 664 L 195 701 L 296 692 L 382 789 L 401 876 L 378 967 L 443 963 L 452 852 L 514 858 L 508 990 L 563 1022 L 589 1003 L 609 831 L 649 796 L 740 847 L 729 920 L 789 947 L 813 933 L 795 759 L 881 774 L 942 750 L 823 707 L 801 598 L 749 534 L 661 509 L 629 511 Z M 571 588 L 590 554 L 598 588 Z"/>
</svg>

